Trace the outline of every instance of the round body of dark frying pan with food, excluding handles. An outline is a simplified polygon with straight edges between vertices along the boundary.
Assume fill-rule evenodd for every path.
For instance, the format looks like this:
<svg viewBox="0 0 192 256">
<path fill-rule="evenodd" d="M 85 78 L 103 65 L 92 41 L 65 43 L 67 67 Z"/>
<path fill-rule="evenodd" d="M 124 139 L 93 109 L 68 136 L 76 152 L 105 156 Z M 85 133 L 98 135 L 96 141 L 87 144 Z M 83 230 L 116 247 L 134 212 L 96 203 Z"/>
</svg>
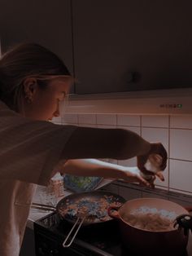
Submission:
<svg viewBox="0 0 192 256">
<path fill-rule="evenodd" d="M 105 202 L 105 207 L 102 207 L 102 202 Z M 84 225 L 108 222 L 112 218 L 108 215 L 107 209 L 111 205 L 123 205 L 125 199 L 122 196 L 116 195 L 111 192 L 94 191 L 94 192 L 81 192 L 71 194 L 64 197 L 56 206 L 56 210 L 61 218 L 64 218 L 69 223 L 75 223 L 78 217 L 78 211 L 81 212 L 81 207 L 88 208 L 86 211 L 87 217 Z M 75 210 L 73 206 L 75 205 Z"/>
</svg>

